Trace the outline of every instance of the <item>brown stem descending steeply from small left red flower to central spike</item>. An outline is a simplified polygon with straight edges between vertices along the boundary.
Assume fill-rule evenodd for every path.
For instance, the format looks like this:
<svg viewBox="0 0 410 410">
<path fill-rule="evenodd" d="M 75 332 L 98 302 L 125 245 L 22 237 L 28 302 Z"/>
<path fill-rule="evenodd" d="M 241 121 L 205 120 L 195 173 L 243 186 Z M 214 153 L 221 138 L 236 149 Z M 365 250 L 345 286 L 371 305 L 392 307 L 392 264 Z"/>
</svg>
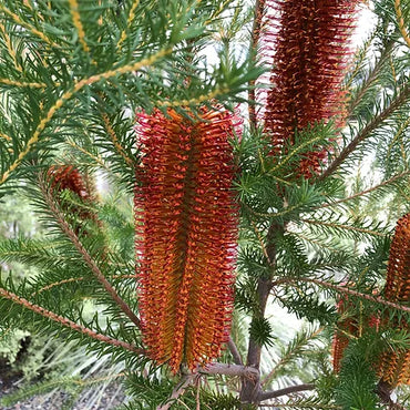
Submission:
<svg viewBox="0 0 410 410">
<path fill-rule="evenodd" d="M 85 264 L 89 266 L 95 278 L 100 281 L 100 284 L 104 287 L 104 289 L 107 291 L 107 294 L 111 296 L 111 298 L 116 303 L 116 305 L 120 307 L 120 309 L 130 318 L 130 320 L 137 326 L 141 327 L 140 319 L 136 317 L 136 315 L 131 310 L 130 306 L 120 297 L 120 295 L 116 293 L 114 287 L 110 284 L 110 281 L 105 278 L 103 273 L 100 270 L 99 266 L 95 264 L 94 259 L 91 257 L 91 255 L 86 252 L 82 243 L 80 242 L 80 238 L 76 236 L 74 230 L 71 228 L 69 223 L 64 219 L 64 216 L 62 212 L 58 208 L 53 197 L 51 196 L 51 193 L 45 188 L 43 181 L 39 180 L 39 185 L 41 193 L 47 202 L 47 204 L 50 207 L 50 211 L 55 216 L 55 219 L 58 224 L 60 225 L 61 229 L 64 232 L 64 234 L 70 238 L 76 250 L 82 255 Z"/>
</svg>

